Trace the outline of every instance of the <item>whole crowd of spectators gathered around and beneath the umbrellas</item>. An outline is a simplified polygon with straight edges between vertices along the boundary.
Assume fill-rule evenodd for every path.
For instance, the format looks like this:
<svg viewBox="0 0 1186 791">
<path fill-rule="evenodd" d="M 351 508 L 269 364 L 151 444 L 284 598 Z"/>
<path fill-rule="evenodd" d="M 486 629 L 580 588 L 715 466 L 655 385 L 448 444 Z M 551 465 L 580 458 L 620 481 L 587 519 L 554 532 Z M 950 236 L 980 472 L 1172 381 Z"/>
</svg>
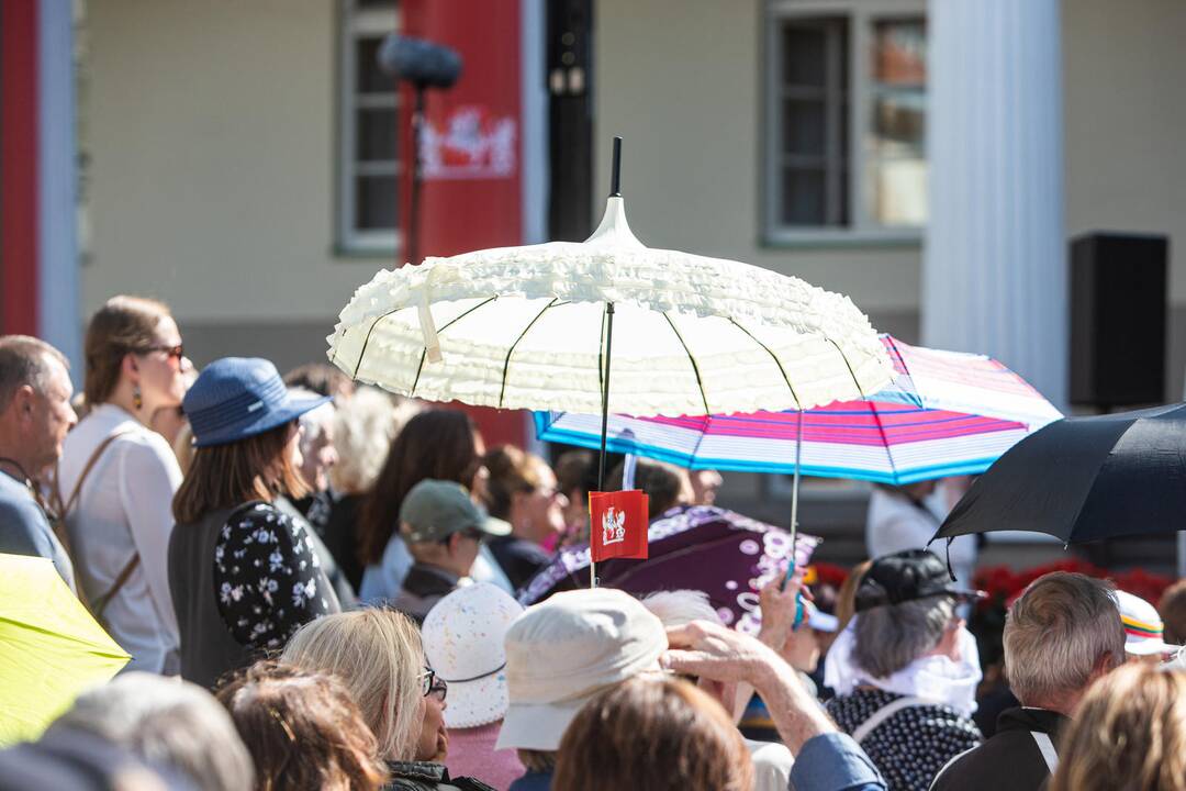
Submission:
<svg viewBox="0 0 1186 791">
<path fill-rule="evenodd" d="M 141 298 L 93 317 L 78 397 L 70 374 L 0 337 L 0 553 L 51 561 L 132 661 L 0 751 L 0 791 L 1186 787 L 1186 587 L 1159 613 L 1041 576 L 989 683 L 975 546 L 955 575 L 922 549 L 933 485 L 875 492 L 839 589 L 754 592 L 757 636 L 694 574 L 524 607 L 588 540 L 591 453 L 487 448 L 464 412 L 327 365 L 197 372 Z M 651 518 L 721 486 L 632 472 Z"/>
</svg>

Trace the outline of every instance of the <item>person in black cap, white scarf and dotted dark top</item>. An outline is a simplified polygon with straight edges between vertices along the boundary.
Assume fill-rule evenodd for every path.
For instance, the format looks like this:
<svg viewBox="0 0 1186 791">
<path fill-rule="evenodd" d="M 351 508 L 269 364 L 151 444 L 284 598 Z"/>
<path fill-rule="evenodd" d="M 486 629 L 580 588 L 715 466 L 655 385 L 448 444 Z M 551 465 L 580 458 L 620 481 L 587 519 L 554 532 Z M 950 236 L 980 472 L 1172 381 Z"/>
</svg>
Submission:
<svg viewBox="0 0 1186 791">
<path fill-rule="evenodd" d="M 878 557 L 856 589 L 856 615 L 828 653 L 828 713 L 876 764 L 892 791 L 925 791 L 975 747 L 980 658 L 956 614 L 957 587 L 933 554 Z"/>
</svg>

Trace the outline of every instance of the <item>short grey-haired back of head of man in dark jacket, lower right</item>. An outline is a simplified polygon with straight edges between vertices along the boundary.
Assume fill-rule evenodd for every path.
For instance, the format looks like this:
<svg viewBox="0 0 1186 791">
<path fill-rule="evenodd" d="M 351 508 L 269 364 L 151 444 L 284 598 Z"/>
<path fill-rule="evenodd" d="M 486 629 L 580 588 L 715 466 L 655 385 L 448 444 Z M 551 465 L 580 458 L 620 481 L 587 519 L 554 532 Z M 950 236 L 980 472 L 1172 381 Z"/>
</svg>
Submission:
<svg viewBox="0 0 1186 791">
<path fill-rule="evenodd" d="M 1112 585 L 1052 572 L 1026 588 L 1005 620 L 1009 688 L 1026 706 L 1048 703 L 1088 687 L 1101 659 L 1124 661 L 1124 626 Z"/>
</svg>

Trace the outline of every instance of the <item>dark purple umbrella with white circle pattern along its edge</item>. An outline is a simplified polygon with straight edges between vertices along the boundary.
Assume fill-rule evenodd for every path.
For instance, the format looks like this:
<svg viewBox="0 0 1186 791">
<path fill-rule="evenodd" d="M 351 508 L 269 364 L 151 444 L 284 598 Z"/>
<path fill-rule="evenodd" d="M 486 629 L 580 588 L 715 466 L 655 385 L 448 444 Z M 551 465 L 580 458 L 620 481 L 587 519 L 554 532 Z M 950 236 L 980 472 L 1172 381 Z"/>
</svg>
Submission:
<svg viewBox="0 0 1186 791">
<path fill-rule="evenodd" d="M 643 595 L 656 591 L 703 591 L 726 624 L 757 633 L 758 591 L 786 573 L 791 536 L 735 511 L 694 505 L 672 509 L 651 522 L 650 557 L 598 563 L 598 587 Z M 799 534 L 798 566 L 805 566 L 820 538 Z M 562 549 L 519 594 L 527 606 L 560 591 L 589 587 L 589 548 Z"/>
</svg>

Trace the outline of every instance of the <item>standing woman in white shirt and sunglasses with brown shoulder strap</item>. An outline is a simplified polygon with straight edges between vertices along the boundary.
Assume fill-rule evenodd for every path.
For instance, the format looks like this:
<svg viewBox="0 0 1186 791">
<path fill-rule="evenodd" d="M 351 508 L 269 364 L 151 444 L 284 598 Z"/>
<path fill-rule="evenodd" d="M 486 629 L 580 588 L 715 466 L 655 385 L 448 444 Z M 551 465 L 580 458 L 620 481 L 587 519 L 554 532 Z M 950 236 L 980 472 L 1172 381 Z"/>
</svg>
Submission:
<svg viewBox="0 0 1186 791">
<path fill-rule="evenodd" d="M 177 408 L 192 365 L 161 302 L 115 296 L 85 340 L 87 416 L 66 436 L 55 476 L 79 593 L 133 656 L 129 669 L 177 674 L 177 619 L 166 575 L 177 458 L 149 428 Z"/>
</svg>

